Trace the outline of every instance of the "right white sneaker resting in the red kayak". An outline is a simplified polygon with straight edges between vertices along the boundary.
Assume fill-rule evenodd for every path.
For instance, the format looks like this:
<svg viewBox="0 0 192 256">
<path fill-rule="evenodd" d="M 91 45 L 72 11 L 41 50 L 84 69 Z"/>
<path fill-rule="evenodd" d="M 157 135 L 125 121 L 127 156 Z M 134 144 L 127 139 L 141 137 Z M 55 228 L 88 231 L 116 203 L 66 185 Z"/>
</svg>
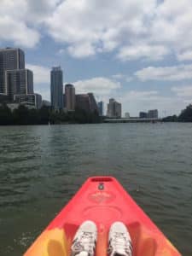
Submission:
<svg viewBox="0 0 192 256">
<path fill-rule="evenodd" d="M 115 222 L 112 224 L 108 235 L 109 256 L 131 256 L 131 237 L 125 224 Z"/>
</svg>

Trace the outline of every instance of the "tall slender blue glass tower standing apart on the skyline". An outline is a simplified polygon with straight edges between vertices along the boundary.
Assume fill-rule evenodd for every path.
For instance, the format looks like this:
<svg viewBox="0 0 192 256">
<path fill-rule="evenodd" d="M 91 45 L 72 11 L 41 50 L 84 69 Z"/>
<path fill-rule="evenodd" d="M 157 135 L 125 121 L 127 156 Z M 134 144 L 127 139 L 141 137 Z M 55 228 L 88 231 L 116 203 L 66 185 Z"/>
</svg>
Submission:
<svg viewBox="0 0 192 256">
<path fill-rule="evenodd" d="M 50 99 L 54 109 L 63 108 L 63 75 L 61 67 L 53 67 L 50 72 Z"/>
</svg>

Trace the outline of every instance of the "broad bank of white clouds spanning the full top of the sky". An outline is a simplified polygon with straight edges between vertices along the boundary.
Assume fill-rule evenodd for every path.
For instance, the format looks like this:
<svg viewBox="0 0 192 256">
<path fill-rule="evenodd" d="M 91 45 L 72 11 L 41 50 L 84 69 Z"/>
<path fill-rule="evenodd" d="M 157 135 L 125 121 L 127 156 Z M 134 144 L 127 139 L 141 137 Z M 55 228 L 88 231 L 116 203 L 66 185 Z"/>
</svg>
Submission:
<svg viewBox="0 0 192 256">
<path fill-rule="evenodd" d="M 1 0 L 0 40 L 34 47 L 49 34 L 77 58 L 191 61 L 191 13 L 191 0 Z"/>
</svg>

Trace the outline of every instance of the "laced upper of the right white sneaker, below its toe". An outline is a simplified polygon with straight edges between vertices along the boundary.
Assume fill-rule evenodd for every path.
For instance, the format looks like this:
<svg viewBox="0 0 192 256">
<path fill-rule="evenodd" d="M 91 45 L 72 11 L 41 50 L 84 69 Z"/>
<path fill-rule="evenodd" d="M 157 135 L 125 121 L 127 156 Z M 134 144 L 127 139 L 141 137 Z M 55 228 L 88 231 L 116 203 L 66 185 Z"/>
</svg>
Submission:
<svg viewBox="0 0 192 256">
<path fill-rule="evenodd" d="M 132 246 L 131 241 L 127 240 L 125 233 L 116 232 L 109 241 L 108 253 L 110 255 L 121 255 L 118 252 L 122 252 L 122 255 L 131 256 Z"/>
</svg>

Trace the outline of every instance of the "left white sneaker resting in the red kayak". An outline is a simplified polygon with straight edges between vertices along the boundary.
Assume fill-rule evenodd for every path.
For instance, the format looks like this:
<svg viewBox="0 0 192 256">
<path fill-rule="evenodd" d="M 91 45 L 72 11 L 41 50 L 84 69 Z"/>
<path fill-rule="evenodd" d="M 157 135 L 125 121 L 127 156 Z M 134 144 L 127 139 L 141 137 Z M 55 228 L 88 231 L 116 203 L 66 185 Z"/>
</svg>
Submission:
<svg viewBox="0 0 192 256">
<path fill-rule="evenodd" d="M 71 256 L 94 256 L 96 238 L 96 224 L 90 220 L 84 221 L 73 238 Z"/>
</svg>

